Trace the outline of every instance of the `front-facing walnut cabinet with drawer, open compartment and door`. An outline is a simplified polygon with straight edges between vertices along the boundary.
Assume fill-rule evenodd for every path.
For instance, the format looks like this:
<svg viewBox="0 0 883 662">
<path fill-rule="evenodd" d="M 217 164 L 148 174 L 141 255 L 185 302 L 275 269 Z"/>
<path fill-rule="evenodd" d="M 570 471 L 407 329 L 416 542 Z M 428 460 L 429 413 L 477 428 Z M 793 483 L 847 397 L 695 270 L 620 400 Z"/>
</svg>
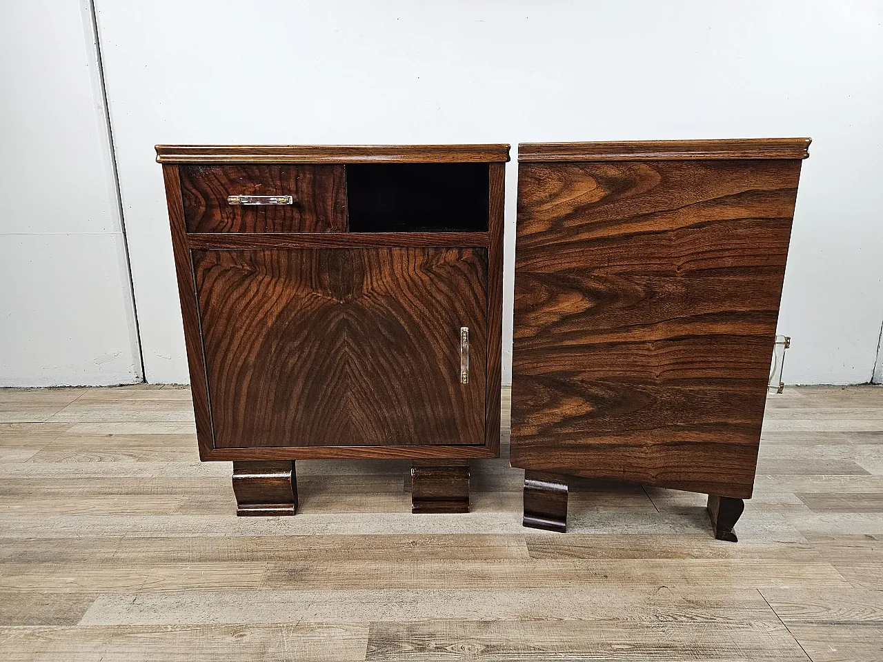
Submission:
<svg viewBox="0 0 883 662">
<path fill-rule="evenodd" d="M 157 146 L 202 460 L 293 515 L 295 460 L 411 458 L 465 512 L 500 446 L 508 145 Z"/>
</svg>

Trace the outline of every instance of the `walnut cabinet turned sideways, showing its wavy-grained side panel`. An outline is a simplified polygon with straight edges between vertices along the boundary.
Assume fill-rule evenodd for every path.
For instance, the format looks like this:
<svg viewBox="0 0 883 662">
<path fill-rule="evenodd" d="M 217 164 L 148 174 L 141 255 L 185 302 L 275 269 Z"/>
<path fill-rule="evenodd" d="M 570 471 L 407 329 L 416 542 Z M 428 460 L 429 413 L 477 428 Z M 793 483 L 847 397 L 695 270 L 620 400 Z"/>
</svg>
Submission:
<svg viewBox="0 0 883 662">
<path fill-rule="evenodd" d="M 518 146 L 511 463 L 525 526 L 567 476 L 751 497 L 809 139 Z"/>
</svg>

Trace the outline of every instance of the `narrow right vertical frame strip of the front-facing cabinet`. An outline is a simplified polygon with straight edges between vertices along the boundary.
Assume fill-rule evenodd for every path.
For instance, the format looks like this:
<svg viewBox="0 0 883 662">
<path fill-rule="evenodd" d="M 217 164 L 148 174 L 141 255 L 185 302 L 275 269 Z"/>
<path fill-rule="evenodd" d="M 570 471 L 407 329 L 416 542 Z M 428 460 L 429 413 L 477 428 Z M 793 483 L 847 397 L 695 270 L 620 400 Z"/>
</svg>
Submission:
<svg viewBox="0 0 883 662">
<path fill-rule="evenodd" d="M 487 251 L 487 407 L 485 437 L 488 448 L 500 450 L 500 398 L 502 387 L 502 258 L 505 163 L 490 164 L 488 186 Z"/>
</svg>

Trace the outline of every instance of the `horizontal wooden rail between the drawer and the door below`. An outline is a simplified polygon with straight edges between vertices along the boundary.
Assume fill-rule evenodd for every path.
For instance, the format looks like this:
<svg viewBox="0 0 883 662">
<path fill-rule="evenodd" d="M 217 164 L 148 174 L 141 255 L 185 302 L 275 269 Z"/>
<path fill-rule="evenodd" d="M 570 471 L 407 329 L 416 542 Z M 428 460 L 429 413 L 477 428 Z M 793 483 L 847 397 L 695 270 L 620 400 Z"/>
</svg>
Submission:
<svg viewBox="0 0 883 662">
<path fill-rule="evenodd" d="M 489 232 L 341 232 L 328 234 L 187 235 L 190 248 L 346 248 L 490 245 Z"/>
</svg>

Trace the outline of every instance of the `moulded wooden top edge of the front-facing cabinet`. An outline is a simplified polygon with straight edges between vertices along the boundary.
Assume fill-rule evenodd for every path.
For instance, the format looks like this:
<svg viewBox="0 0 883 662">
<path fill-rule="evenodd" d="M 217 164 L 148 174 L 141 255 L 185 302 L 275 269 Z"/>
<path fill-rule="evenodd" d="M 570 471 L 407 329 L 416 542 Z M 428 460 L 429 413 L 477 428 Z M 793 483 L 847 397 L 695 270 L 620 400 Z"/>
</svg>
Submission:
<svg viewBox="0 0 883 662">
<path fill-rule="evenodd" d="M 509 145 L 157 145 L 160 163 L 489 163 Z"/>
</svg>

